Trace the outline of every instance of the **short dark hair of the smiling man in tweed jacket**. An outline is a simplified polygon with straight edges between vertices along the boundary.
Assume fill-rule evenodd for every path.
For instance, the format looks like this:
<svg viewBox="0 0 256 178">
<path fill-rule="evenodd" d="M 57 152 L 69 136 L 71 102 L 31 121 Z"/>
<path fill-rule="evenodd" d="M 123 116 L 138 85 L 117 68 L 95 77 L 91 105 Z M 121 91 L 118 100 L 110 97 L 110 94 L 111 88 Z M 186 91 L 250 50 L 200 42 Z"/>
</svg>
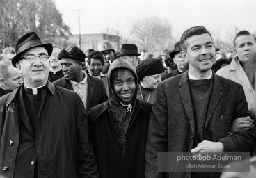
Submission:
<svg viewBox="0 0 256 178">
<path fill-rule="evenodd" d="M 187 29 L 186 31 L 184 31 L 184 33 L 182 34 L 182 38 L 180 39 L 180 47 L 182 48 L 182 51 L 186 51 L 187 49 L 187 42 L 186 40 L 188 38 L 190 38 L 193 35 L 202 35 L 204 33 L 208 33 L 211 36 L 211 33 L 209 33 L 209 31 L 207 31 L 207 29 L 205 28 L 205 26 L 193 26 L 189 29 Z M 211 37 L 212 39 L 212 37 Z"/>
</svg>

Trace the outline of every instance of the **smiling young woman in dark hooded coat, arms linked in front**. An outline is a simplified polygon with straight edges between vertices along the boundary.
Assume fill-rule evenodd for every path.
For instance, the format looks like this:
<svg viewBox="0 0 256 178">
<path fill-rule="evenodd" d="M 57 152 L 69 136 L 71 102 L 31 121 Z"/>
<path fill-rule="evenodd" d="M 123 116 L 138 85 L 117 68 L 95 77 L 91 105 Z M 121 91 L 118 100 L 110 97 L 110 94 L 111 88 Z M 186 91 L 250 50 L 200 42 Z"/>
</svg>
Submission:
<svg viewBox="0 0 256 178">
<path fill-rule="evenodd" d="M 145 143 L 152 104 L 136 99 L 137 75 L 126 60 L 108 72 L 109 100 L 88 113 L 89 136 L 99 176 L 145 177 Z"/>
</svg>

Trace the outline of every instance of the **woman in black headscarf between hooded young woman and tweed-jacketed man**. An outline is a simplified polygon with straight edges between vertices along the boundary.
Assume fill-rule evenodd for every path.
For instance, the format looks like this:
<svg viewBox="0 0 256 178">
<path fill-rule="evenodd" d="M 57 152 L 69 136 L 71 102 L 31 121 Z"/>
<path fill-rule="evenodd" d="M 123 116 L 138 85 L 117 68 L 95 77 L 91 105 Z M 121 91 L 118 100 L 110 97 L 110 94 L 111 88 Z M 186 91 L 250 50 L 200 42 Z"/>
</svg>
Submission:
<svg viewBox="0 0 256 178">
<path fill-rule="evenodd" d="M 147 58 L 137 67 L 138 93 L 137 98 L 154 104 L 156 101 L 157 86 L 161 82 L 161 74 L 164 72 L 161 59 Z"/>
</svg>

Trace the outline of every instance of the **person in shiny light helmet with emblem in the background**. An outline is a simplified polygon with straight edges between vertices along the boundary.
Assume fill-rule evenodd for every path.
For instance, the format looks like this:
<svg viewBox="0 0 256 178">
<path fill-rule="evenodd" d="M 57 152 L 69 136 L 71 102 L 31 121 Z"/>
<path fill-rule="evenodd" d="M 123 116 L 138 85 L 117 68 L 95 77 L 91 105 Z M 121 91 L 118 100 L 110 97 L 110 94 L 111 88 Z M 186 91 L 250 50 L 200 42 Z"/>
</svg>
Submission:
<svg viewBox="0 0 256 178">
<path fill-rule="evenodd" d="M 110 41 L 104 40 L 99 43 L 98 51 L 100 51 L 104 57 L 104 66 L 102 73 L 107 74 L 109 70 L 109 65 L 111 65 L 113 60 L 115 60 L 115 49 Z"/>
</svg>

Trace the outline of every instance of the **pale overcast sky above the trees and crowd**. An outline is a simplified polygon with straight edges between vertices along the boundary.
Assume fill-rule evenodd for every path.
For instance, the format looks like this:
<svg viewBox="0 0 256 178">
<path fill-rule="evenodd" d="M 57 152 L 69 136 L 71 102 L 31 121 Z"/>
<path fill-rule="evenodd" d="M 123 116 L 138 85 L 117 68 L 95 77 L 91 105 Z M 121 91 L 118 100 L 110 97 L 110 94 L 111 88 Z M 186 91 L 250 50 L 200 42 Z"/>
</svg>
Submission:
<svg viewBox="0 0 256 178">
<path fill-rule="evenodd" d="M 103 33 L 107 28 L 127 33 L 143 17 L 167 19 L 179 38 L 191 26 L 203 25 L 213 35 L 226 36 L 238 30 L 256 32 L 255 0 L 56 0 L 63 21 L 73 34 Z"/>
</svg>

